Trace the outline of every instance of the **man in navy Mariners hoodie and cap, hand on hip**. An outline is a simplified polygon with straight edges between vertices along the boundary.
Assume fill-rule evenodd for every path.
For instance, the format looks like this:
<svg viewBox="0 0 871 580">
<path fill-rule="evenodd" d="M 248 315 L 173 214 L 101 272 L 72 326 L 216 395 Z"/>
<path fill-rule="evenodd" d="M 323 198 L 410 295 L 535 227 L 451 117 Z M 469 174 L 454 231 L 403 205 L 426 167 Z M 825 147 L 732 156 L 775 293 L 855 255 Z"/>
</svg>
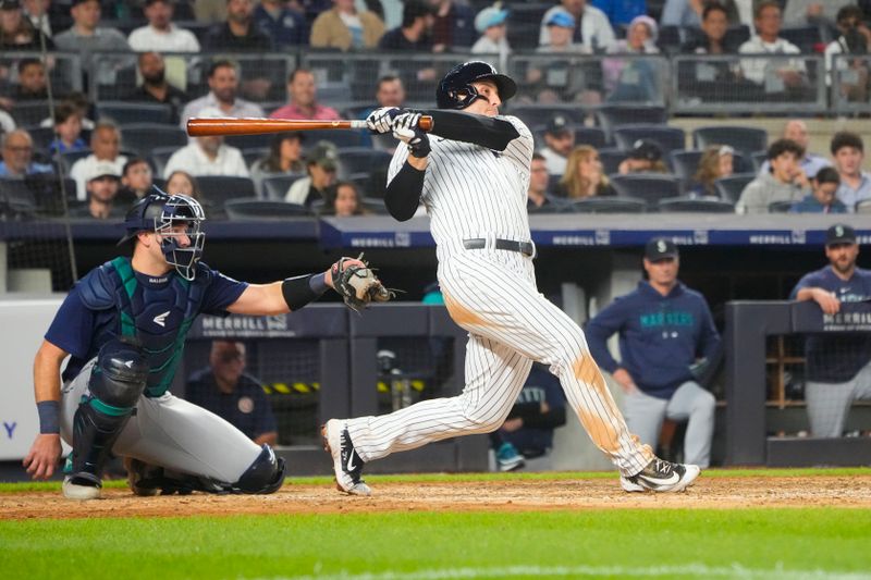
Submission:
<svg viewBox="0 0 871 580">
<path fill-rule="evenodd" d="M 677 281 L 678 268 L 674 243 L 648 242 L 648 280 L 590 320 L 587 341 L 596 362 L 625 391 L 626 422 L 641 443 L 655 448 L 665 417 L 688 420 L 684 460 L 704 468 L 711 462 L 715 399 L 697 377 L 716 360 L 720 335 L 704 297 Z M 619 362 L 605 344 L 615 332 Z"/>
</svg>

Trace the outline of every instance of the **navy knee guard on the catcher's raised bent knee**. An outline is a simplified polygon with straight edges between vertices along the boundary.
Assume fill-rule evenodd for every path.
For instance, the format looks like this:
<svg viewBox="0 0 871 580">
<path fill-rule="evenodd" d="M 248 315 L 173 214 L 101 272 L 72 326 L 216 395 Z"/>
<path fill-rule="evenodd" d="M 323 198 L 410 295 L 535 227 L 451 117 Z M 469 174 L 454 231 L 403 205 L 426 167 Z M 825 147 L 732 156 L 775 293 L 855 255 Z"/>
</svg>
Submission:
<svg viewBox="0 0 871 580">
<path fill-rule="evenodd" d="M 113 407 L 135 407 L 148 382 L 148 362 L 142 348 L 128 338 L 102 345 L 90 372 L 88 391 Z"/>
</svg>

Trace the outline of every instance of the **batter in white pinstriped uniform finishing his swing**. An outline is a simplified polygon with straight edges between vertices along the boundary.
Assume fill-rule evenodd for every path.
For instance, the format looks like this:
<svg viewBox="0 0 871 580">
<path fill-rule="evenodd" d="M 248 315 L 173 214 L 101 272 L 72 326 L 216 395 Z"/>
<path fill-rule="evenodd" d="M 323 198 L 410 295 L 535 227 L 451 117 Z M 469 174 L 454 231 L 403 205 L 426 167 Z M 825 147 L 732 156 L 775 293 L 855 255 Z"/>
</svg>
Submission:
<svg viewBox="0 0 871 580">
<path fill-rule="evenodd" d="M 614 462 L 626 491 L 682 491 L 697 466 L 657 458 L 631 435 L 592 360 L 581 330 L 536 287 L 526 210 L 532 135 L 499 107 L 514 81 L 467 62 L 439 84 L 432 137 L 420 113 L 369 115 L 370 131 L 407 147 L 392 160 L 385 203 L 400 221 L 422 200 L 438 245 L 439 283 L 453 320 L 469 332 L 463 393 L 380 417 L 332 419 L 323 427 L 340 490 L 369 495 L 365 462 L 447 437 L 494 431 L 517 398 L 533 360 L 560 378 L 572 408 Z M 461 112 L 462 111 L 462 112 Z"/>
</svg>

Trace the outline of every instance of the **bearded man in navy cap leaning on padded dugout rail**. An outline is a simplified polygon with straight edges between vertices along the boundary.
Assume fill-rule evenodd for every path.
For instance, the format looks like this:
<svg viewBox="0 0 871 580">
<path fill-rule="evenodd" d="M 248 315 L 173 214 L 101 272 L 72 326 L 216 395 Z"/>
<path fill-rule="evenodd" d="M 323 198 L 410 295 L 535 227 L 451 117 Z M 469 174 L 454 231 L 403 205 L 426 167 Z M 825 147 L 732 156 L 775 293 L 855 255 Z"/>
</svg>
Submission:
<svg viewBox="0 0 871 580">
<path fill-rule="evenodd" d="M 871 271 L 857 268 L 856 231 L 835 224 L 825 233 L 829 266 L 806 274 L 793 288 L 794 300 L 813 300 L 836 316 L 846 303 L 871 299 Z M 871 398 L 871 333 L 823 333 L 805 338 L 805 403 L 814 437 L 839 437 L 850 404 Z"/>
</svg>

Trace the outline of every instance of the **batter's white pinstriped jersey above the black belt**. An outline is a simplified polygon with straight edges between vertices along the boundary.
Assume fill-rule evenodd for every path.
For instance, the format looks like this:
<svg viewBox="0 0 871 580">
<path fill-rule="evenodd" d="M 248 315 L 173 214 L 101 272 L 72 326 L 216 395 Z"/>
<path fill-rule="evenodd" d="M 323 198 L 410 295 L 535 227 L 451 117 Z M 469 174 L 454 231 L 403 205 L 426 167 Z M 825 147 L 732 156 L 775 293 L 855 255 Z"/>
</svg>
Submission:
<svg viewBox="0 0 871 580">
<path fill-rule="evenodd" d="M 510 122 L 520 134 L 504 151 L 430 135 L 432 152 L 420 199 L 431 219 L 432 237 L 440 247 L 488 234 L 518 242 L 530 239 L 526 192 L 532 134 L 516 116 L 496 119 Z M 388 183 L 407 157 L 407 147 L 396 148 Z"/>
</svg>

